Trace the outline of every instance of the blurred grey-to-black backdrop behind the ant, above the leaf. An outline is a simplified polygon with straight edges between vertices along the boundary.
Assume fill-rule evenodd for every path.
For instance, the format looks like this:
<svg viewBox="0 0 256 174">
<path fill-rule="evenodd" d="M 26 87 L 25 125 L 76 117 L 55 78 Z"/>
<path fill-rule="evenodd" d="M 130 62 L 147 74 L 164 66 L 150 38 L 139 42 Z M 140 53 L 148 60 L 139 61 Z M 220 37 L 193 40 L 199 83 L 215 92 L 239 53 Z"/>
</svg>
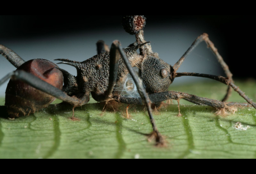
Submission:
<svg viewBox="0 0 256 174">
<path fill-rule="evenodd" d="M 234 78 L 255 77 L 255 65 L 251 61 L 255 44 L 250 44 L 255 39 L 255 16 L 145 16 L 144 36 L 151 41 L 153 51 L 168 64 L 174 65 L 197 36 L 206 32 L 230 65 Z M 121 15 L 0 16 L 0 44 L 25 61 L 36 58 L 84 61 L 96 55 L 98 40 L 110 46 L 116 39 L 123 47 L 135 42 L 135 36 L 123 30 Z M 60 67 L 76 75 L 75 68 Z M 0 56 L 0 78 L 14 70 L 15 67 Z M 179 72 L 224 75 L 205 43 L 193 51 Z M 198 80 L 204 79 L 181 77 L 175 79 L 173 85 Z M 0 97 L 4 97 L 6 86 L 7 83 L 0 86 Z"/>
</svg>

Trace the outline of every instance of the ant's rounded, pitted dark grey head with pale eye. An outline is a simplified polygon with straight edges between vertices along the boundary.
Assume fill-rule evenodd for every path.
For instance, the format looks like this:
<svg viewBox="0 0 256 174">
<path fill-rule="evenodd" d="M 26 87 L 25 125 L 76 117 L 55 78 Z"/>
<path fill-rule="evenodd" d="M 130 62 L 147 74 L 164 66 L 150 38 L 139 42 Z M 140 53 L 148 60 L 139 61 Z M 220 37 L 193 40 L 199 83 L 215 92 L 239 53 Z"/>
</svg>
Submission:
<svg viewBox="0 0 256 174">
<path fill-rule="evenodd" d="M 171 65 L 155 57 L 147 57 L 141 66 L 141 78 L 148 93 L 167 91 L 174 80 Z"/>
</svg>

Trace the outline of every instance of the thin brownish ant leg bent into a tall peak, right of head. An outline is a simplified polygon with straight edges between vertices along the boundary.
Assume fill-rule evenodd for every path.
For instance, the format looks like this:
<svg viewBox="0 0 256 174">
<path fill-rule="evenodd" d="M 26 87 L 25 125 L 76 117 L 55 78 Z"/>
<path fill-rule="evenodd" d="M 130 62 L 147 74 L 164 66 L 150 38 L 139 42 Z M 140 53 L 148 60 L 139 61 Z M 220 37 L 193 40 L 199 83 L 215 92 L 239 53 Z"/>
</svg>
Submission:
<svg viewBox="0 0 256 174">
<path fill-rule="evenodd" d="M 184 60 L 187 58 L 187 56 L 199 45 L 199 43 L 201 43 L 202 41 L 205 41 L 208 48 L 210 48 L 213 52 L 213 54 L 216 56 L 216 58 L 218 59 L 219 63 L 221 64 L 223 70 L 225 71 L 225 74 L 227 75 L 227 77 L 230 78 L 230 80 L 232 82 L 232 73 L 230 72 L 228 65 L 225 63 L 225 61 L 223 60 L 223 58 L 221 57 L 221 55 L 218 52 L 218 49 L 215 48 L 214 44 L 212 43 L 212 41 L 210 41 L 209 36 L 206 33 L 203 33 L 202 35 L 200 35 L 190 46 L 190 48 L 188 48 L 188 50 L 185 52 L 184 55 L 182 55 L 182 57 L 179 59 L 179 61 L 173 66 L 174 71 L 176 72 L 179 67 L 181 66 L 182 62 L 184 62 Z M 227 94 L 225 95 L 225 97 L 222 99 L 222 102 L 225 102 L 228 100 L 228 98 L 231 96 L 232 93 L 232 88 L 229 86 L 228 90 L 227 90 Z"/>
</svg>

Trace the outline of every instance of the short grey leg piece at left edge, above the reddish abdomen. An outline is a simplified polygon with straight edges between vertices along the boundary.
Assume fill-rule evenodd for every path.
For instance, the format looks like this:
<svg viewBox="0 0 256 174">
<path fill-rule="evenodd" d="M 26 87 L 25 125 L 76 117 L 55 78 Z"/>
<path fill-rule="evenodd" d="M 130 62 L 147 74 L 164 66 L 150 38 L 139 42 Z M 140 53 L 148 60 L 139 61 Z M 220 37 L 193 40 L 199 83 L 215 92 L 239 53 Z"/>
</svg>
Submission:
<svg viewBox="0 0 256 174">
<path fill-rule="evenodd" d="M 25 63 L 25 61 L 19 57 L 18 54 L 3 45 L 0 45 L 0 54 L 3 55 L 3 57 L 5 57 L 16 68 Z"/>
</svg>

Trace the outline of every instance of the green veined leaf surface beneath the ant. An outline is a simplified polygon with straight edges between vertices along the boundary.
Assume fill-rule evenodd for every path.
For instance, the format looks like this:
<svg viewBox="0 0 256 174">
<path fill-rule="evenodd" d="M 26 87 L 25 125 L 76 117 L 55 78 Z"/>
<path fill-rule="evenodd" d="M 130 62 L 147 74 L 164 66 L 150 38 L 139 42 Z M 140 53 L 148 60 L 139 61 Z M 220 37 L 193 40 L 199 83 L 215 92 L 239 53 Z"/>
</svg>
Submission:
<svg viewBox="0 0 256 174">
<path fill-rule="evenodd" d="M 256 101 L 254 81 L 237 84 Z M 226 89 L 219 83 L 197 83 L 171 86 L 170 90 L 221 99 Z M 230 101 L 244 102 L 235 92 Z M 177 117 L 177 105 L 163 107 L 154 112 L 154 118 L 168 147 L 157 148 L 143 135 L 152 131 L 146 111 L 133 106 L 131 119 L 125 119 L 126 106 L 102 113 L 104 104 L 87 104 L 75 109 L 80 121 L 68 119 L 72 107 L 65 104 L 15 120 L 5 119 L 1 106 L 0 158 L 256 158 L 253 108 L 221 117 L 211 107 L 182 105 L 183 116 Z M 250 128 L 237 130 L 237 122 Z"/>
</svg>

